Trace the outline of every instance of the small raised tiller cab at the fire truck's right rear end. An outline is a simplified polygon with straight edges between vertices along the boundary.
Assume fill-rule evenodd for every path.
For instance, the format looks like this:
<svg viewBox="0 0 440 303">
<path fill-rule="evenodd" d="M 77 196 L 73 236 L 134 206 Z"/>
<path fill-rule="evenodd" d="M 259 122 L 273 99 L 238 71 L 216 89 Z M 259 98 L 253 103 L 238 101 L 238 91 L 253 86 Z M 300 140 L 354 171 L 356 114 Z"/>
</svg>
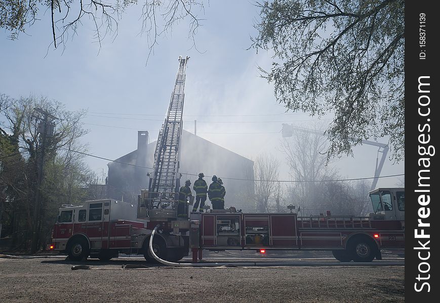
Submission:
<svg viewBox="0 0 440 303">
<path fill-rule="evenodd" d="M 405 188 L 376 188 L 369 192 L 373 212 L 370 217 L 405 221 Z"/>
</svg>

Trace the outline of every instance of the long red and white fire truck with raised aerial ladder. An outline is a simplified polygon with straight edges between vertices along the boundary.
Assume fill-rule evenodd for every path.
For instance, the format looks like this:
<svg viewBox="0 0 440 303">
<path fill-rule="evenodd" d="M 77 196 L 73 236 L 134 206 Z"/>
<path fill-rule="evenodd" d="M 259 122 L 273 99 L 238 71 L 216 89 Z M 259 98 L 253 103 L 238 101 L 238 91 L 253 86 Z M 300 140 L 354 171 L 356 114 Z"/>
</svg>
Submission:
<svg viewBox="0 0 440 303">
<path fill-rule="evenodd" d="M 242 213 L 233 208 L 191 213 L 178 218 L 180 138 L 185 69 L 189 57 L 179 57 L 179 69 L 165 122 L 159 131 L 153 173 L 141 190 L 137 207 L 115 199 L 63 205 L 53 228 L 52 247 L 70 260 L 87 257 L 110 260 L 120 253 L 143 255 L 155 262 L 177 262 L 202 250 L 329 250 L 342 262 L 381 259 L 381 249 L 405 246 L 405 190 L 378 188 L 370 194 L 368 216 L 299 217 L 291 206 L 285 213 Z M 191 203 L 191 199 L 188 204 Z"/>
</svg>

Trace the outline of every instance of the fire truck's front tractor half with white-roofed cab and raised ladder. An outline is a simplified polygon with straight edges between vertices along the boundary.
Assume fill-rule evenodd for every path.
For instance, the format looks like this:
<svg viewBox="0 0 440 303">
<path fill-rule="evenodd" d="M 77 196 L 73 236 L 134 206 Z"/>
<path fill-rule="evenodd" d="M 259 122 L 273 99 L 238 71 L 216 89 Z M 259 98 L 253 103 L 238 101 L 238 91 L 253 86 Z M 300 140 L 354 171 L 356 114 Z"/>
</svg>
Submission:
<svg viewBox="0 0 440 303">
<path fill-rule="evenodd" d="M 119 253 L 142 254 L 154 261 L 148 241 L 161 225 L 152 244 L 161 259 L 178 261 L 188 256 L 188 220 L 176 220 L 180 187 L 179 160 L 182 134 L 185 71 L 189 57 L 179 56 L 179 68 L 165 122 L 157 138 L 148 189 L 132 204 L 114 199 L 85 201 L 82 206 L 63 205 L 52 233 L 51 248 L 73 261 L 87 257 L 110 260 Z"/>
</svg>

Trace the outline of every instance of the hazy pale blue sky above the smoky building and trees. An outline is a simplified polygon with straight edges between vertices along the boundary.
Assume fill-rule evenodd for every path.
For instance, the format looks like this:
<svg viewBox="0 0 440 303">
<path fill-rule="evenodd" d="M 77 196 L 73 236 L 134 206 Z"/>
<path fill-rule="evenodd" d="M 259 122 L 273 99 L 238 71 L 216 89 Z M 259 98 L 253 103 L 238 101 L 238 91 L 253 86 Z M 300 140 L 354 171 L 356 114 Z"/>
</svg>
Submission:
<svg viewBox="0 0 440 303">
<path fill-rule="evenodd" d="M 234 153 L 255 160 L 269 154 L 281 163 L 280 176 L 288 180 L 286 157 L 280 151 L 282 123 L 307 127 L 317 121 L 304 113 L 285 113 L 276 102 L 273 85 L 260 77 L 258 66 L 269 69 L 270 54 L 251 46 L 258 9 L 248 1 L 210 1 L 195 36 L 188 40 L 188 24 L 181 22 L 159 38 L 149 57 L 147 37 L 140 34 L 140 7 L 126 11 L 117 36 L 99 44 L 92 27 L 84 23 L 66 48 L 50 47 L 48 13 L 41 21 L 9 40 L 0 32 L 0 93 L 11 97 L 46 96 L 69 111 L 88 110 L 83 120 L 90 132 L 82 138 L 89 153 L 117 159 L 137 148 L 137 130 L 157 138 L 168 109 L 178 68 L 178 57 L 189 56 L 186 69 L 184 129 Z M 242 115 L 242 116 L 239 116 Z M 328 124 L 331 120 L 321 119 Z M 386 138 L 379 138 L 386 143 Z M 333 163 L 343 178 L 374 176 L 377 147 L 357 146 L 354 157 Z M 388 154 L 388 156 L 390 153 Z M 380 157 L 380 155 L 379 155 Z M 380 158 L 379 158 L 380 160 Z M 107 173 L 106 160 L 85 158 L 98 175 Z M 193 172 L 194 174 L 198 172 Z M 404 161 L 387 158 L 381 176 L 404 173 Z M 224 178 L 234 176 L 222 176 Z M 377 187 L 394 187 L 403 177 L 381 178 Z"/>
</svg>

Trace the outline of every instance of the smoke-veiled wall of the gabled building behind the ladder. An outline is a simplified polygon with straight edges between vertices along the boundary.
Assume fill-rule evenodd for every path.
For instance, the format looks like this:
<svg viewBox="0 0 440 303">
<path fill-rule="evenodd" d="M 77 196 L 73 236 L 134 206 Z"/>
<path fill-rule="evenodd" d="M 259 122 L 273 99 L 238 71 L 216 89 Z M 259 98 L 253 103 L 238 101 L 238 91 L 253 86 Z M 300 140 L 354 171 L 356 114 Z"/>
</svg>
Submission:
<svg viewBox="0 0 440 303">
<path fill-rule="evenodd" d="M 138 135 L 138 142 L 144 138 Z M 146 142 L 138 143 L 137 150 L 117 159 L 117 161 L 152 168 L 156 141 L 149 144 Z M 181 184 L 186 179 L 190 179 L 193 184 L 198 178 L 198 173 L 203 172 L 207 176 L 205 181 L 209 186 L 212 182 L 211 176 L 216 175 L 222 178 L 223 186 L 226 189 L 226 208 L 234 206 L 240 209 L 253 205 L 251 196 L 254 192 L 254 183 L 227 179 L 228 177 L 253 179 L 253 161 L 187 131 L 182 133 L 180 148 Z M 152 173 L 152 169 L 115 162 L 109 163 L 108 168 L 109 197 L 121 200 L 122 194 L 124 194 L 125 201 L 137 203 L 137 195 L 140 190 L 148 187 L 147 173 Z"/>
</svg>

